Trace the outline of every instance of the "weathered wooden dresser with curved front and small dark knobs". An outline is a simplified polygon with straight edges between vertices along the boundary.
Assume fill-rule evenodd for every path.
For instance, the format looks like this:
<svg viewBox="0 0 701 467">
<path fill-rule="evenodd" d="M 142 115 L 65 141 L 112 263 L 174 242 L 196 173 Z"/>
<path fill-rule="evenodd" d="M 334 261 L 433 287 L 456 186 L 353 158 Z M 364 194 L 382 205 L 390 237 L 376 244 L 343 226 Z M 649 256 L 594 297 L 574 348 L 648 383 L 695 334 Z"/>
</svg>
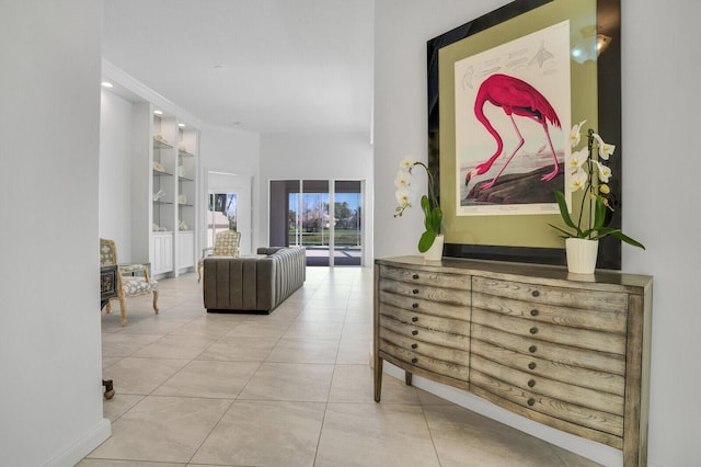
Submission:
<svg viewBox="0 0 701 467">
<path fill-rule="evenodd" d="M 623 451 L 644 466 L 652 277 L 421 257 L 375 262 L 382 362 Z"/>
</svg>

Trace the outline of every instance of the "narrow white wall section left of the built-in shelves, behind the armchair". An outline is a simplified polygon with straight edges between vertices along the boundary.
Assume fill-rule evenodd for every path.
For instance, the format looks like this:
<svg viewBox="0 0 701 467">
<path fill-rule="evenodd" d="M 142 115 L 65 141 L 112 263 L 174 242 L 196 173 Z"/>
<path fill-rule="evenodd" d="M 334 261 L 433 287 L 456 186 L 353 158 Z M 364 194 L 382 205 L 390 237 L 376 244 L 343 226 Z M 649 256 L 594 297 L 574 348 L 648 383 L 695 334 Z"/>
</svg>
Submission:
<svg viewBox="0 0 701 467">
<path fill-rule="evenodd" d="M 119 262 L 131 261 L 131 102 L 102 91 L 99 232 L 119 246 Z"/>
</svg>

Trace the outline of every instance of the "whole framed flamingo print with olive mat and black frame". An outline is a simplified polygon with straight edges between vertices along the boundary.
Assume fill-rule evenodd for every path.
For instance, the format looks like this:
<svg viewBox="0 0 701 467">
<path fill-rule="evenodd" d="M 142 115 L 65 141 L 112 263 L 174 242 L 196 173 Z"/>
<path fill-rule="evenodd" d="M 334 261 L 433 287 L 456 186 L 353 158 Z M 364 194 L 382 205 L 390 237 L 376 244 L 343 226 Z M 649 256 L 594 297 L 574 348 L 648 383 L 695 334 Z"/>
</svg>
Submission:
<svg viewBox="0 0 701 467">
<path fill-rule="evenodd" d="M 517 0 L 433 38 L 427 53 L 444 254 L 564 264 L 549 224 L 560 217 L 555 190 L 581 205 L 564 189 L 570 128 L 587 119 L 621 148 L 620 0 Z M 620 183 L 611 189 L 616 227 Z M 620 241 L 600 243 L 597 266 L 620 269 Z"/>
</svg>

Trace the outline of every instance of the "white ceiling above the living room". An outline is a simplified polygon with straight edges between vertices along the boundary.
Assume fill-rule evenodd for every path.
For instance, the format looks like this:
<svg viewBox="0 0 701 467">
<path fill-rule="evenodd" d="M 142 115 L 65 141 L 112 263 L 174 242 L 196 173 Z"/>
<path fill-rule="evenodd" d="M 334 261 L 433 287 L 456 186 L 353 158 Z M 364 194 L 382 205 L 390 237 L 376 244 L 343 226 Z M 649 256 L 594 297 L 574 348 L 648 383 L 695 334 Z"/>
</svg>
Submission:
<svg viewBox="0 0 701 467">
<path fill-rule="evenodd" d="M 370 132 L 374 0 L 106 0 L 103 57 L 203 122 Z"/>
</svg>

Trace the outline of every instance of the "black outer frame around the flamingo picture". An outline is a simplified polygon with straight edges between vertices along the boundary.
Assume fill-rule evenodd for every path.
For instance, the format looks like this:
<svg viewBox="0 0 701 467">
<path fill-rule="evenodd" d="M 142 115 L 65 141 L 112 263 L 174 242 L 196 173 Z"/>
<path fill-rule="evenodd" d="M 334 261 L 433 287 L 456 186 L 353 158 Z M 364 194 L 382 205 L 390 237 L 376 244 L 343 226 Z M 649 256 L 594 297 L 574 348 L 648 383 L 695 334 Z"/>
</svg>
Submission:
<svg viewBox="0 0 701 467">
<path fill-rule="evenodd" d="M 439 102 L 439 53 L 440 49 L 459 41 L 469 39 L 521 14 L 538 14 L 539 8 L 553 2 L 568 0 L 516 0 L 497 10 L 476 18 L 427 42 L 427 122 L 428 122 L 428 166 L 436 173 L 435 191 L 440 200 L 440 117 Z M 607 141 L 616 141 L 617 157 L 608 161 L 617 176 L 611 179 L 609 201 L 614 210 L 609 212 L 608 226 L 620 228 L 622 216 L 622 139 L 621 139 L 621 60 L 620 60 L 620 0 L 596 0 L 597 32 L 610 37 L 605 54 L 597 59 L 597 115 L 598 133 L 606 135 Z M 574 122 L 574 118 L 573 118 Z M 453 128 L 455 130 L 455 128 Z M 444 180 L 444 182 L 446 182 Z M 554 200 L 554 196 L 553 196 Z M 443 203 L 441 203 L 443 205 Z M 444 213 L 445 214 L 445 213 Z M 555 218 L 553 217 L 553 220 Z M 518 235 L 518 225 L 514 229 Z M 566 264 L 564 243 L 562 248 L 540 248 L 516 244 L 472 243 L 469 239 L 446 240 L 445 257 L 515 261 L 540 264 Z M 621 241 L 608 236 L 599 241 L 597 267 L 621 269 Z"/>
</svg>

